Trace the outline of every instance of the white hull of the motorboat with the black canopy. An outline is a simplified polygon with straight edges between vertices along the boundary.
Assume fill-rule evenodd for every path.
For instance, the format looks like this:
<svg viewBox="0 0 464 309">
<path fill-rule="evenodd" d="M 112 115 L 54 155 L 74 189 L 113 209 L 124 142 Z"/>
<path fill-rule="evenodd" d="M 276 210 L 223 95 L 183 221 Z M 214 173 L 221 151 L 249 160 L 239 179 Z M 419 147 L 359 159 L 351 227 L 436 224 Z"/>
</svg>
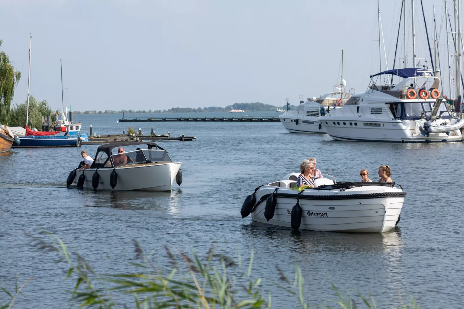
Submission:
<svg viewBox="0 0 464 309">
<path fill-rule="evenodd" d="M 153 190 L 171 191 L 172 184 L 182 163 L 148 163 L 129 165 L 115 168 L 98 168 L 97 173 L 100 177 L 97 190 Z M 110 175 L 113 170 L 117 173 L 116 187 L 110 185 Z M 79 172 L 76 170 L 76 177 L 71 186 L 77 186 L 79 176 L 84 173 L 85 189 L 93 189 L 92 177 L 95 168 L 84 169 Z"/>
</svg>

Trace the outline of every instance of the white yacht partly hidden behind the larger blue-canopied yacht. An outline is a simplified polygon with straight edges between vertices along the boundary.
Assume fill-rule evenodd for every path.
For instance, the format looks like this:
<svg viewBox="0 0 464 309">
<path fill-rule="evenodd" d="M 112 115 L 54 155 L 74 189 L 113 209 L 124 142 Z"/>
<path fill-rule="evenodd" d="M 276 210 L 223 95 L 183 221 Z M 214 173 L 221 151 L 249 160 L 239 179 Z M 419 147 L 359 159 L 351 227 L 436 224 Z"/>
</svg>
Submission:
<svg viewBox="0 0 464 309">
<path fill-rule="evenodd" d="M 300 104 L 294 110 L 290 110 L 290 104 L 287 104 L 287 111 L 279 116 L 280 122 L 290 133 L 327 133 L 317 117 L 349 100 L 351 95 L 344 91 L 345 86 L 346 81 L 342 79 L 339 85 L 334 86 L 332 92 L 319 98 L 308 98 L 306 102 L 302 101 L 303 96 L 300 95 Z"/>
</svg>

